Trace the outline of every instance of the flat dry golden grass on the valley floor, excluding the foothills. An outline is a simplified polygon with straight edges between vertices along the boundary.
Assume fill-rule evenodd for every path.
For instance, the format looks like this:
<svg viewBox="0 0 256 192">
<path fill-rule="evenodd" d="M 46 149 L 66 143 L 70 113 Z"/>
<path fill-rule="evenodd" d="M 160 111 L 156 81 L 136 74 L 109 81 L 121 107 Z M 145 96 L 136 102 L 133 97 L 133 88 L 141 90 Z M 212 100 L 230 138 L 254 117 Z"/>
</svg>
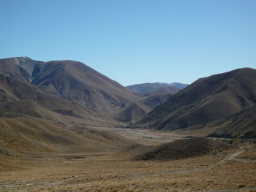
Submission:
<svg viewBox="0 0 256 192">
<path fill-rule="evenodd" d="M 140 145 L 170 142 L 173 135 L 113 129 Z M 234 143 L 227 150 L 173 161 L 131 161 L 116 155 L 121 145 L 34 157 L 0 155 L 0 191 L 256 191 L 255 144 Z"/>
</svg>

